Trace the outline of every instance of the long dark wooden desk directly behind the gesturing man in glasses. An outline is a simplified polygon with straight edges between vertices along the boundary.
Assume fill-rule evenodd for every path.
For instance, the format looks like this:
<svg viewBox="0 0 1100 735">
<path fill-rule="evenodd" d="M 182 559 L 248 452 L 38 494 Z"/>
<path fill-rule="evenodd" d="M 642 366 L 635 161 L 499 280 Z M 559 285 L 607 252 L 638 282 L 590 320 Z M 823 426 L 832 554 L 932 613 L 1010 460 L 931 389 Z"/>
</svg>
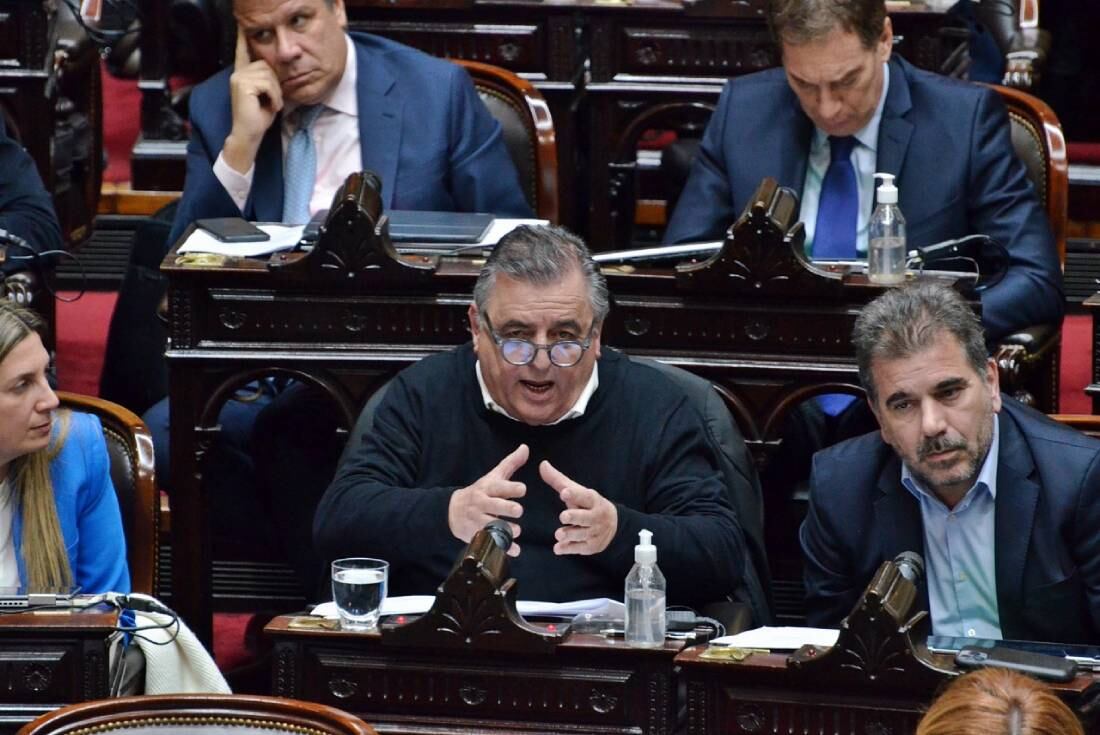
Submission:
<svg viewBox="0 0 1100 735">
<path fill-rule="evenodd" d="M 802 401 L 859 393 L 851 326 L 880 290 L 789 271 L 796 267 L 783 255 L 790 246 L 768 217 L 761 210 L 745 220 L 744 251 L 724 266 L 734 275 L 607 268 L 614 307 L 603 328 L 605 344 L 715 382 L 761 462 Z M 172 527 L 186 539 L 173 544 L 173 605 L 201 640 L 211 640 L 212 597 L 210 498 L 200 468 L 222 404 L 241 385 L 282 374 L 319 386 L 350 428 L 392 374 L 469 339 L 480 265 L 446 259 L 433 275 L 402 285 L 377 271 L 310 279 L 268 271 L 264 261 L 183 265 L 174 251 L 165 259 Z"/>
</svg>

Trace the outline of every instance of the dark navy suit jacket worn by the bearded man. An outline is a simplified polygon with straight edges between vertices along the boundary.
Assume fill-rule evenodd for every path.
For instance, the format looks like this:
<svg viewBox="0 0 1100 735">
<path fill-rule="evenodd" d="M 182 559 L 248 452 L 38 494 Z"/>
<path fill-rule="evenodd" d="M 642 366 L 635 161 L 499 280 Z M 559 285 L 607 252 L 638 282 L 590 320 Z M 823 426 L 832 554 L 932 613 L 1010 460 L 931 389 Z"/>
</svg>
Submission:
<svg viewBox="0 0 1100 735">
<path fill-rule="evenodd" d="M 1100 643 L 1100 442 L 1005 397 L 998 458 L 1002 634 Z M 836 626 L 887 559 L 923 553 L 920 503 L 878 432 L 814 456 L 801 540 L 811 625 Z"/>
</svg>

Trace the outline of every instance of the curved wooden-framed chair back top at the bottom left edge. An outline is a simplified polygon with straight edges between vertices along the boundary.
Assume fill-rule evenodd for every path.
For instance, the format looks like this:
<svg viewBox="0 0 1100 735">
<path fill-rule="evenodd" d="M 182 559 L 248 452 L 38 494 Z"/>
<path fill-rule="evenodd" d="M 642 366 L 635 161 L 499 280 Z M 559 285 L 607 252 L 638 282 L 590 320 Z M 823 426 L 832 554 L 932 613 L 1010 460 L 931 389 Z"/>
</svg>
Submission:
<svg viewBox="0 0 1100 735">
<path fill-rule="evenodd" d="M 118 696 L 69 704 L 28 723 L 20 735 L 377 735 L 324 704 L 254 694 Z"/>
</svg>

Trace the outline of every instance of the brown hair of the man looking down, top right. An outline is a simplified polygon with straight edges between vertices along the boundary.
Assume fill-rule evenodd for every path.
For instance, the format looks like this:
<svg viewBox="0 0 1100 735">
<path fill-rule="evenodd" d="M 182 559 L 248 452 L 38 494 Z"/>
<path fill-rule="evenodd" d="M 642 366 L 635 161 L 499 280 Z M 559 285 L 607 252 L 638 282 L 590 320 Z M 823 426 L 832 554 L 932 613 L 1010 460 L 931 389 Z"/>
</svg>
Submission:
<svg viewBox="0 0 1100 735">
<path fill-rule="evenodd" d="M 834 29 L 855 33 L 865 48 L 882 37 L 886 0 L 770 0 L 768 28 L 782 48 L 824 39 Z"/>
</svg>

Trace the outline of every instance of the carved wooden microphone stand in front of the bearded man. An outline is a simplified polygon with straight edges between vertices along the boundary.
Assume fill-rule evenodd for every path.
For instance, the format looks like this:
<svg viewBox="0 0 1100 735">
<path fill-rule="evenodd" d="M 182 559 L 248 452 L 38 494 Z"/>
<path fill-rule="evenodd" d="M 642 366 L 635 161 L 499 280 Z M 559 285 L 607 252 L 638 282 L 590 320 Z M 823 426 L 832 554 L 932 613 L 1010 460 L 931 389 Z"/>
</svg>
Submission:
<svg viewBox="0 0 1100 735">
<path fill-rule="evenodd" d="M 927 611 L 914 611 L 916 586 L 892 561 L 875 573 L 829 649 L 803 646 L 788 660 L 795 671 L 831 684 L 877 684 L 932 691 L 956 671 L 937 666 L 924 645 Z"/>
</svg>

